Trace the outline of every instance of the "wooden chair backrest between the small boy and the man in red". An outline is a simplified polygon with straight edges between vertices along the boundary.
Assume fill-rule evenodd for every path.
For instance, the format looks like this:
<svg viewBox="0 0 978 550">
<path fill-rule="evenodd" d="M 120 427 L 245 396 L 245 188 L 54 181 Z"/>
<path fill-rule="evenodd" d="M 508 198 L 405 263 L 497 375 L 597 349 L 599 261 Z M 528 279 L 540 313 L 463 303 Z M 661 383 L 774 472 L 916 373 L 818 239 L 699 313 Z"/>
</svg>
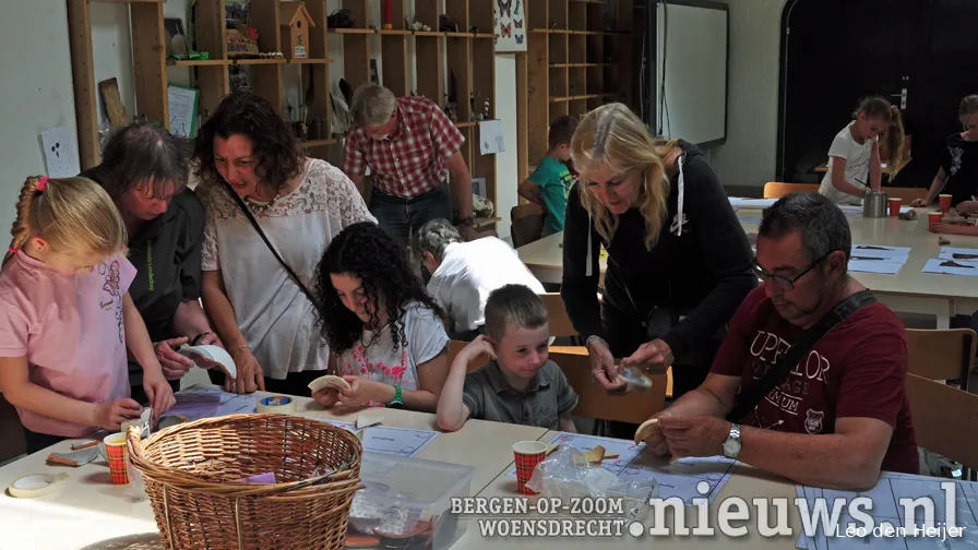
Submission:
<svg viewBox="0 0 978 550">
<path fill-rule="evenodd" d="M 665 406 L 667 385 L 665 374 L 649 376 L 652 390 L 648 392 L 608 395 L 601 384 L 592 376 L 591 359 L 587 354 L 551 351 L 550 360 L 560 367 L 571 387 L 577 393 L 577 408 L 574 409 L 576 416 L 642 423 L 663 410 Z"/>
</svg>

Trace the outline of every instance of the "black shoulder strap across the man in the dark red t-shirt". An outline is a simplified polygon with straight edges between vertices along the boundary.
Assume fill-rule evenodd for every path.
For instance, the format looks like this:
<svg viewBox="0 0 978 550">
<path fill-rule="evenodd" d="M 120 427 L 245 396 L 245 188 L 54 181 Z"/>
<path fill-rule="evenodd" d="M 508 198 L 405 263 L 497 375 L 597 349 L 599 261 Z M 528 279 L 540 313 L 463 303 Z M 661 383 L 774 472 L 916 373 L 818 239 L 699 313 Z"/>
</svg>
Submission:
<svg viewBox="0 0 978 550">
<path fill-rule="evenodd" d="M 825 316 L 819 320 L 814 326 L 803 332 L 798 340 L 782 356 L 780 360 L 774 363 L 771 369 L 754 385 L 737 398 L 734 409 L 727 415 L 727 420 L 739 423 L 743 417 L 754 410 L 754 407 L 767 393 L 785 376 L 791 372 L 791 369 L 801 361 L 819 340 L 828 334 L 835 326 L 845 321 L 846 318 L 855 313 L 858 309 L 870 303 L 875 303 L 876 299 L 869 290 L 862 290 L 849 296 L 838 306 L 830 311 Z"/>
</svg>

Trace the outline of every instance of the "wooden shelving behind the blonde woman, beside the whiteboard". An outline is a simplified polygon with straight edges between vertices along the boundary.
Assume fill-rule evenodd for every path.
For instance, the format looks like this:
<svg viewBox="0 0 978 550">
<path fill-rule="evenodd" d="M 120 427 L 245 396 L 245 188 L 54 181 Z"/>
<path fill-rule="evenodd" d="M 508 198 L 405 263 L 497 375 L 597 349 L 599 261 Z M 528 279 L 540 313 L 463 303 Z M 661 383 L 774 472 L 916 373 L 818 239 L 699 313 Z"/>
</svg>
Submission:
<svg viewBox="0 0 978 550">
<path fill-rule="evenodd" d="M 615 101 L 636 109 L 633 43 L 641 36 L 632 33 L 633 5 L 632 0 L 539 0 L 527 7 L 525 67 L 516 69 L 517 111 L 526 121 L 520 130 L 526 143 L 521 180 L 546 155 L 550 123 L 558 117 L 580 119 Z"/>
</svg>

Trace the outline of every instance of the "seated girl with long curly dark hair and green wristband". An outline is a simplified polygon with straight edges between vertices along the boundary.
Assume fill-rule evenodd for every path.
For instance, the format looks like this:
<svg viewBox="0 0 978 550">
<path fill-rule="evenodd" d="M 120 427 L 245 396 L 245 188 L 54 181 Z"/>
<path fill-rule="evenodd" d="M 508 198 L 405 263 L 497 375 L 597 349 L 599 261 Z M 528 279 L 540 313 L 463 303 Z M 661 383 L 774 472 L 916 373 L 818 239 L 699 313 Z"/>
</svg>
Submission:
<svg viewBox="0 0 978 550">
<path fill-rule="evenodd" d="M 324 407 L 433 412 L 449 372 L 449 336 L 404 249 L 375 224 L 350 225 L 326 249 L 315 291 L 331 362 L 350 388 L 313 398 Z"/>
</svg>

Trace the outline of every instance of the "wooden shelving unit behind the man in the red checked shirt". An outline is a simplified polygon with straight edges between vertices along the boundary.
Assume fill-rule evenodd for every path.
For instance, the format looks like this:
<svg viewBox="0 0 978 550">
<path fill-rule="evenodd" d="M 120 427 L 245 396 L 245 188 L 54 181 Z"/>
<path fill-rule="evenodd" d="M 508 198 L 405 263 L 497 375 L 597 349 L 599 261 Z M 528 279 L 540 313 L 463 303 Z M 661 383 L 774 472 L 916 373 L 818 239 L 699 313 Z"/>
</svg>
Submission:
<svg viewBox="0 0 978 550">
<path fill-rule="evenodd" d="M 72 67 L 74 72 L 75 111 L 77 118 L 82 168 L 98 164 L 98 120 L 96 112 L 97 83 L 92 55 L 92 22 L 90 1 L 68 0 L 69 32 L 71 34 Z M 167 60 L 163 0 L 100 0 L 129 3 L 133 36 L 136 117 L 145 116 L 169 127 L 167 87 L 169 68 L 190 68 L 194 87 L 200 91 L 199 112 L 202 118 L 214 112 L 220 100 L 231 91 L 230 71 L 246 71 L 252 91 L 289 119 L 289 97 L 302 98 L 312 82 L 312 100 L 306 108 L 306 122 L 313 132 L 300 143 L 305 154 L 336 162 L 341 158 L 343 136 L 331 128 L 330 93 L 338 94 L 332 84 L 343 77 L 350 87 L 369 82 L 371 59 L 382 65 L 380 83 L 397 96 L 421 95 L 444 108 L 448 93 L 446 74 L 454 73 L 457 86 L 456 127 L 465 136 L 462 153 L 473 179 L 486 180 L 486 194 L 493 205 L 497 201 L 496 156 L 481 155 L 479 123 L 474 118 L 469 98 L 474 95 L 476 109 L 482 112 L 489 101 L 489 119 L 496 118 L 496 48 L 494 35 L 489 33 L 494 23 L 494 1 L 490 0 L 393 0 L 393 28 L 382 28 L 381 15 L 371 13 L 370 0 L 342 0 L 349 10 L 354 28 L 329 28 L 327 0 L 305 0 L 313 20 L 309 29 L 308 59 L 231 59 L 227 53 L 224 0 L 196 0 L 194 3 L 195 36 L 190 43 L 198 51 L 206 51 L 207 60 Z M 283 51 L 288 57 L 287 33 L 279 25 L 282 0 L 250 0 L 250 24 L 258 29 L 262 52 Z M 332 2 L 329 4 L 332 5 Z M 439 16 L 448 14 L 462 32 L 443 33 Z M 432 31 L 415 32 L 406 26 L 406 19 L 421 21 Z M 186 23 L 186 22 L 184 22 Z M 465 32 L 477 27 L 478 33 Z M 136 32 L 139 31 L 139 32 Z M 339 51 L 330 51 L 330 41 L 339 44 Z M 410 43 L 414 44 L 410 44 Z M 378 49 L 379 44 L 379 49 Z M 413 46 L 413 48 L 410 47 Z M 412 50 L 414 56 L 410 56 Z M 331 75 L 333 58 L 342 59 L 342 74 Z M 301 71 L 302 89 L 289 94 L 286 71 Z M 334 76 L 331 79 L 331 76 Z M 412 82 L 415 83 L 412 86 Z M 317 124 L 319 121 L 319 124 Z M 321 130 L 313 131 L 313 129 Z M 451 184 L 451 182 L 450 182 Z M 454 201 L 454 193 L 452 193 Z M 494 230 L 498 218 L 479 218 L 479 230 Z"/>
</svg>

